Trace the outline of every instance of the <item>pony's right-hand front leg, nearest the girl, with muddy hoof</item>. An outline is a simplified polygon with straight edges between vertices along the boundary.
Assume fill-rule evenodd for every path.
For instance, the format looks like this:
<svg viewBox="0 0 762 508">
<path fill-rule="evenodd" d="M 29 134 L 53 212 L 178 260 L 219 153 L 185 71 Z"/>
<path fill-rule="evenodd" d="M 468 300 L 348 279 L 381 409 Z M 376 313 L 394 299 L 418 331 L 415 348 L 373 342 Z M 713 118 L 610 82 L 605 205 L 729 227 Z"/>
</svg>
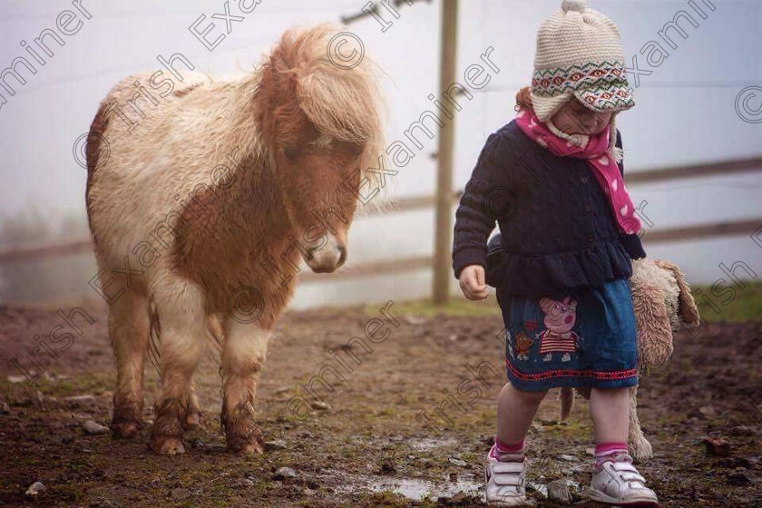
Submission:
<svg viewBox="0 0 762 508">
<path fill-rule="evenodd" d="M 267 354 L 271 329 L 259 322 L 243 324 L 228 318 L 222 348 L 222 428 L 228 448 L 239 454 L 261 454 L 262 438 L 254 420 L 259 372 Z"/>
</svg>

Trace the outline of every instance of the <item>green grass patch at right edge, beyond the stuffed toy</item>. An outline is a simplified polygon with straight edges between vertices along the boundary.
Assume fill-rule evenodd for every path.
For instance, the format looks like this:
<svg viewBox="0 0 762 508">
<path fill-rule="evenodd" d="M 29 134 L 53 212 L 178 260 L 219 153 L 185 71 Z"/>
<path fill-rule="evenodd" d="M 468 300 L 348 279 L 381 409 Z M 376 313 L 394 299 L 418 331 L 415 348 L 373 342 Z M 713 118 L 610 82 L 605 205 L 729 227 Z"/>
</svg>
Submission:
<svg viewBox="0 0 762 508">
<path fill-rule="evenodd" d="M 708 323 L 762 321 L 762 282 L 744 280 L 743 285 L 742 289 L 738 286 L 723 284 L 721 288 L 716 289 L 720 293 L 719 297 L 713 295 L 709 286 L 691 288 L 693 298 L 696 298 L 699 306 L 701 318 Z M 727 288 L 730 287 L 736 291 L 736 294 L 728 301 Z"/>
</svg>

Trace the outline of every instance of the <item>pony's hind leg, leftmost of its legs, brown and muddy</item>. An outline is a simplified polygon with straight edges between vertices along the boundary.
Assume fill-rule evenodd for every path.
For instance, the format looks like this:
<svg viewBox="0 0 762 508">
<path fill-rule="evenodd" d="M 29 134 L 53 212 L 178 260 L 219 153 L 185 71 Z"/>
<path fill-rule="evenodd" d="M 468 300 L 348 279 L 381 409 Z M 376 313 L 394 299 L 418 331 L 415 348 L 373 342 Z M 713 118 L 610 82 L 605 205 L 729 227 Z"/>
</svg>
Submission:
<svg viewBox="0 0 762 508">
<path fill-rule="evenodd" d="M 149 343 L 148 299 L 127 291 L 109 307 L 109 335 L 116 364 L 111 428 L 116 437 L 132 437 L 142 427 L 143 365 Z"/>
</svg>

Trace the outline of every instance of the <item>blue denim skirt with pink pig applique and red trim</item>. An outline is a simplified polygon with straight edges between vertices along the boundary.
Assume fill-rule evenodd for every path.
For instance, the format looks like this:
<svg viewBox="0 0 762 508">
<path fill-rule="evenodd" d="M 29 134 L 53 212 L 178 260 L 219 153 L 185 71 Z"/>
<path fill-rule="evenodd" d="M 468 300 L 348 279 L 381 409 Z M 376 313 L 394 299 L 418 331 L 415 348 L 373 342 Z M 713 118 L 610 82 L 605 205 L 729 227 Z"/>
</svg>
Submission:
<svg viewBox="0 0 762 508">
<path fill-rule="evenodd" d="M 557 297 L 558 298 L 558 297 Z M 636 386 L 637 337 L 626 278 L 575 288 L 562 299 L 498 289 L 505 367 L 520 390 Z"/>
</svg>

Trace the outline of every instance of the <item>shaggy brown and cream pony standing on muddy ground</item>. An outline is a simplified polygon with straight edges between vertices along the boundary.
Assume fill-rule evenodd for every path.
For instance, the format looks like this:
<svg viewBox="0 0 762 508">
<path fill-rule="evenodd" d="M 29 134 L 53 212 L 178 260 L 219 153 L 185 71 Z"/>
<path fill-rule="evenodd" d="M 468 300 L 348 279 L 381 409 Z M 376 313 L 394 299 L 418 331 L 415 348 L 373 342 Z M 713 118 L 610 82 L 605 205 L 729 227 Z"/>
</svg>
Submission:
<svg viewBox="0 0 762 508">
<path fill-rule="evenodd" d="M 334 66 L 334 35 L 326 25 L 289 31 L 254 72 L 230 81 L 181 73 L 163 101 L 136 89 L 151 73 L 103 100 L 87 144 L 86 203 L 110 304 L 115 435 L 142 424 L 144 358 L 150 332 L 161 332 L 151 447 L 184 451 L 183 431 L 200 418 L 190 379 L 213 331 L 228 445 L 261 451 L 257 379 L 291 276 L 301 260 L 318 272 L 344 262 L 357 208 L 347 182 L 367 196 L 378 181 L 363 170 L 384 153 L 376 68 L 367 59 Z M 132 110 L 115 106 L 128 101 Z M 243 311 L 231 308 L 241 288 Z"/>
</svg>

